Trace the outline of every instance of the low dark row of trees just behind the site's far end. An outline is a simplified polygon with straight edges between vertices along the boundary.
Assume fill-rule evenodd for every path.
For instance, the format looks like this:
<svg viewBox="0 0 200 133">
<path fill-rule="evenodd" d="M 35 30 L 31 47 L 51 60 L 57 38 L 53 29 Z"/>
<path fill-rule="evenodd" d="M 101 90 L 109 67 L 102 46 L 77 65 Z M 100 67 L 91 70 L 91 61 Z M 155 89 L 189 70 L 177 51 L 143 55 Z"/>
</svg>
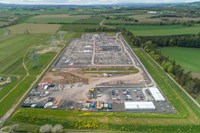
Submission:
<svg viewBox="0 0 200 133">
<path fill-rule="evenodd" d="M 119 32 L 119 31 L 121 31 L 121 28 L 99 27 L 99 28 L 85 29 L 85 32 Z"/>
</svg>

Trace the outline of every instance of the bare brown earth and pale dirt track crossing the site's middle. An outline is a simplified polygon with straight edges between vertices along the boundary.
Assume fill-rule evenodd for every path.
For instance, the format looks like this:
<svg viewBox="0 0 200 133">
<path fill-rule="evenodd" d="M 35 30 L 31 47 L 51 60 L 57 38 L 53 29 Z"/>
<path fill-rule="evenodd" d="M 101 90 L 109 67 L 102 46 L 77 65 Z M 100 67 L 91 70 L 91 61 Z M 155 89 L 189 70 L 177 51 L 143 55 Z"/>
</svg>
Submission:
<svg viewBox="0 0 200 133">
<path fill-rule="evenodd" d="M 50 82 L 57 84 L 65 84 L 59 87 L 60 91 L 54 91 L 53 96 L 58 97 L 59 101 L 62 100 L 87 100 L 89 89 L 95 88 L 102 83 L 116 84 L 117 81 L 123 83 L 140 83 L 144 80 L 141 72 L 130 75 L 116 75 L 113 77 L 103 77 L 103 75 L 88 75 L 81 73 L 81 69 L 69 68 L 63 69 L 60 72 L 48 72 L 42 79 L 42 82 Z M 84 83 L 79 86 L 79 83 Z M 101 99 L 107 99 L 108 96 L 104 95 Z M 60 102 L 59 102 L 60 103 Z"/>
</svg>

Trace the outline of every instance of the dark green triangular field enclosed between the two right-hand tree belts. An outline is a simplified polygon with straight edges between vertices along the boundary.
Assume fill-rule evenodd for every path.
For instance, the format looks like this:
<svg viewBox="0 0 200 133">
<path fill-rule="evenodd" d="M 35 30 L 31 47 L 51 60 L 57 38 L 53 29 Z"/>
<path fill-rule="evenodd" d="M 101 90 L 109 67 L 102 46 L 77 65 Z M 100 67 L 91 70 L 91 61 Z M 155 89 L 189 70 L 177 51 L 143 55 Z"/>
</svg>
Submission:
<svg viewBox="0 0 200 133">
<path fill-rule="evenodd" d="M 166 47 L 159 49 L 163 55 L 170 57 L 180 64 L 186 71 L 191 71 L 200 77 L 200 49 Z"/>
</svg>

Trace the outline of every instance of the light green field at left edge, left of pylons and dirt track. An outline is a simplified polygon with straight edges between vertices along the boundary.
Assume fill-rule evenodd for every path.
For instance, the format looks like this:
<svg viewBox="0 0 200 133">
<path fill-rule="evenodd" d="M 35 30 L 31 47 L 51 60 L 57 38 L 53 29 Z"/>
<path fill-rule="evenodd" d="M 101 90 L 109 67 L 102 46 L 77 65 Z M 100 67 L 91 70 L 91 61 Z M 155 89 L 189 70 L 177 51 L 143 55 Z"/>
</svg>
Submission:
<svg viewBox="0 0 200 133">
<path fill-rule="evenodd" d="M 33 34 L 33 35 L 11 35 L 0 40 L 0 73 L 8 74 L 9 67 L 23 58 L 27 49 L 31 46 L 37 46 L 42 42 L 48 41 L 48 34 Z M 20 63 L 21 64 L 21 63 Z M 12 72 L 13 70 L 10 69 Z"/>
</svg>

